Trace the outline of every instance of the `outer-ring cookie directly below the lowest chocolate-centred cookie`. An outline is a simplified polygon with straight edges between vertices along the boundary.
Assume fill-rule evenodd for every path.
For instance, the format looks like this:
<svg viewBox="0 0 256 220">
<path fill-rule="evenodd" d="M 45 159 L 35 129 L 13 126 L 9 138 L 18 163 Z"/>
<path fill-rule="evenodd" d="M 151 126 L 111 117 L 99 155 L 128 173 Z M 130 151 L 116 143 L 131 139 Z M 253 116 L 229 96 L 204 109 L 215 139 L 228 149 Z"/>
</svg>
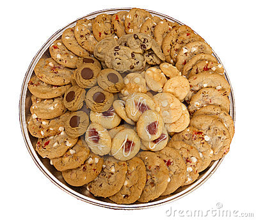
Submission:
<svg viewBox="0 0 256 220">
<path fill-rule="evenodd" d="M 63 156 L 51 160 L 52 165 L 58 171 L 74 169 L 81 166 L 90 154 L 90 148 L 83 139 L 78 139 L 76 145 L 68 150 Z"/>
</svg>

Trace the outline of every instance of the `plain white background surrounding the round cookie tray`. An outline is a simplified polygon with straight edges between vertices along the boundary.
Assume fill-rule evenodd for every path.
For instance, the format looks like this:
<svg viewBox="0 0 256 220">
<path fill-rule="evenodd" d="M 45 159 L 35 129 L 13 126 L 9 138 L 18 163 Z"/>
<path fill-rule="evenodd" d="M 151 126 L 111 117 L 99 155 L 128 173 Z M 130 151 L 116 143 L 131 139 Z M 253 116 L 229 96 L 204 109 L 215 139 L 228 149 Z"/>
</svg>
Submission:
<svg viewBox="0 0 256 220">
<path fill-rule="evenodd" d="M 166 210 L 255 210 L 255 10 L 253 1 L 5 1 L 1 4 L 1 219 L 170 219 Z M 105 8 L 138 7 L 184 22 L 211 44 L 236 98 L 236 134 L 218 170 L 193 193 L 147 210 L 109 210 L 76 200 L 36 167 L 22 139 L 19 95 L 33 56 L 58 29 Z M 5 217 L 4 217 L 5 216 Z M 177 214 L 176 214 L 177 216 Z M 209 219 L 216 219 L 211 217 Z M 192 219 L 180 217 L 180 219 Z M 234 218 L 233 218 L 234 219 Z M 250 219 L 250 218 L 247 218 Z"/>
</svg>

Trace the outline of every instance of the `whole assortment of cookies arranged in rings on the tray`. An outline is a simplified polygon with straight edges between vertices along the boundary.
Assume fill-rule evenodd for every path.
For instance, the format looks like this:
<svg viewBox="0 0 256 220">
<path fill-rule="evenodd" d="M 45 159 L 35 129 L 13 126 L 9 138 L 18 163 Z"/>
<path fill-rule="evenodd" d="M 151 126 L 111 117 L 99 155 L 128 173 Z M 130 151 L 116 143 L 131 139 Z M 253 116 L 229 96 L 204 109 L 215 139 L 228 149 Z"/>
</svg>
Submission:
<svg viewBox="0 0 256 220">
<path fill-rule="evenodd" d="M 148 202 L 197 180 L 234 136 L 230 85 L 191 28 L 132 8 L 78 20 L 28 83 L 35 150 L 67 184 Z"/>
</svg>

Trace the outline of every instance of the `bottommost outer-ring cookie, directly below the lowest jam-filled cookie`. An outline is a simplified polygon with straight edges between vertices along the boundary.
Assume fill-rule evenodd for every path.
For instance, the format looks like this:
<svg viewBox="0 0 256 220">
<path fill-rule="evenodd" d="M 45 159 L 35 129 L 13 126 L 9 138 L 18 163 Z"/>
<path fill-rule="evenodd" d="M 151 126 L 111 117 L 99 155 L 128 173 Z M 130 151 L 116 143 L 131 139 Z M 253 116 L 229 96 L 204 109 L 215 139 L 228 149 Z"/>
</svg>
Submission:
<svg viewBox="0 0 256 220">
<path fill-rule="evenodd" d="M 140 198 L 143 188 L 146 184 L 146 167 L 144 162 L 134 157 L 127 161 L 127 173 L 124 185 L 109 199 L 118 204 L 131 204 Z"/>
</svg>

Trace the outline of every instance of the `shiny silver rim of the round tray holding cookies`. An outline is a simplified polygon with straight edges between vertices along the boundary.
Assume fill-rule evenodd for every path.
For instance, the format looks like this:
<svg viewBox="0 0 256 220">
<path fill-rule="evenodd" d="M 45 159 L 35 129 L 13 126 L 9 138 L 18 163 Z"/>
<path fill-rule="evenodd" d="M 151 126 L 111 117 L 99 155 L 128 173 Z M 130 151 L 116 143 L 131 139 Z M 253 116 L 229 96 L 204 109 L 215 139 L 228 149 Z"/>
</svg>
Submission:
<svg viewBox="0 0 256 220">
<path fill-rule="evenodd" d="M 131 8 L 115 8 L 115 9 L 108 9 L 108 10 L 101 10 L 98 12 L 90 13 L 84 17 L 81 17 L 79 19 L 93 19 L 100 13 L 107 13 L 107 14 L 113 14 L 120 11 L 129 11 Z M 161 17 L 161 19 L 167 19 L 174 22 L 177 22 L 182 25 L 182 22 L 179 22 L 178 20 L 173 19 L 172 17 L 169 17 L 167 15 L 163 15 L 161 13 L 153 12 L 148 10 L 152 15 L 156 15 L 158 17 Z M 77 19 L 77 20 L 79 20 Z M 170 194 L 169 196 L 160 196 L 154 201 L 150 201 L 148 203 L 133 203 L 132 205 L 118 205 L 116 203 L 113 203 L 111 200 L 104 199 L 104 198 L 95 198 L 91 193 L 86 191 L 85 187 L 72 187 L 68 185 L 61 175 L 60 171 L 57 171 L 51 164 L 49 159 L 43 159 L 42 157 L 39 157 L 38 154 L 35 151 L 36 138 L 31 136 L 27 129 L 27 122 L 29 119 L 29 116 L 31 115 L 29 112 L 29 107 L 31 106 L 31 93 L 28 90 L 28 82 L 31 78 L 31 75 L 33 75 L 33 70 L 35 68 L 36 63 L 41 57 L 50 57 L 49 55 L 49 46 L 51 45 L 54 40 L 57 38 L 60 38 L 63 31 L 67 28 L 71 28 L 72 26 L 76 25 L 77 20 L 74 20 L 74 22 L 71 22 L 64 28 L 61 28 L 58 30 L 54 35 L 52 35 L 46 43 L 42 46 L 42 48 L 36 53 L 36 56 L 31 61 L 28 71 L 26 72 L 26 75 L 24 77 L 24 81 L 22 83 L 22 89 L 20 93 L 20 103 L 19 103 L 19 116 L 20 116 L 20 127 L 22 130 L 22 135 L 24 138 L 24 141 L 26 143 L 26 146 L 28 148 L 28 152 L 30 153 L 31 157 L 35 161 L 36 166 L 44 173 L 44 175 L 51 180 L 52 183 L 60 187 L 63 191 L 66 193 L 74 196 L 75 198 L 85 201 L 87 203 L 91 203 L 93 205 L 98 205 L 100 207 L 106 207 L 106 208 L 113 208 L 113 209 L 124 209 L 124 210 L 132 210 L 132 209 L 141 209 L 141 208 L 150 208 L 150 207 L 156 207 L 158 205 L 163 205 L 165 203 L 170 203 L 172 201 L 178 200 L 179 198 L 182 198 L 183 196 L 191 193 L 196 188 L 200 187 L 200 185 L 204 184 L 204 182 L 211 177 L 212 173 L 216 171 L 218 166 L 220 166 L 221 162 L 223 161 L 223 158 L 218 161 L 212 161 L 210 166 L 205 169 L 202 173 L 200 173 L 200 176 L 198 179 L 193 182 L 193 184 L 180 187 L 175 191 L 175 193 Z M 213 55 L 218 59 L 219 63 L 221 63 L 220 58 L 216 55 L 215 52 L 213 52 Z M 223 63 L 221 63 L 223 65 Z M 224 66 L 223 66 L 224 67 Z M 230 84 L 230 81 L 228 79 L 227 71 L 225 70 L 225 77 Z M 234 102 L 234 93 L 231 87 L 231 93 L 229 95 L 230 98 L 230 116 L 232 116 L 233 120 L 235 121 L 235 102 Z"/>
</svg>

